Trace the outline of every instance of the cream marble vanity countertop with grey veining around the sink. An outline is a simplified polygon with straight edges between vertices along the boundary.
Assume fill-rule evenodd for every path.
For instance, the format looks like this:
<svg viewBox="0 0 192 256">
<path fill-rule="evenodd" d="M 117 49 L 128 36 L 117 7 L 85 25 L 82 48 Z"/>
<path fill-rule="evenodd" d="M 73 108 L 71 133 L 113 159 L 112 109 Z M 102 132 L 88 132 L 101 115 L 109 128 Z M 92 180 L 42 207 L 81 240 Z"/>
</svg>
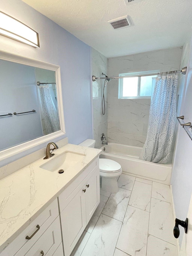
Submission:
<svg viewBox="0 0 192 256">
<path fill-rule="evenodd" d="M 85 154 L 64 173 L 40 168 L 64 151 Z M 0 180 L 0 252 L 100 155 L 100 149 L 67 144 Z"/>
</svg>

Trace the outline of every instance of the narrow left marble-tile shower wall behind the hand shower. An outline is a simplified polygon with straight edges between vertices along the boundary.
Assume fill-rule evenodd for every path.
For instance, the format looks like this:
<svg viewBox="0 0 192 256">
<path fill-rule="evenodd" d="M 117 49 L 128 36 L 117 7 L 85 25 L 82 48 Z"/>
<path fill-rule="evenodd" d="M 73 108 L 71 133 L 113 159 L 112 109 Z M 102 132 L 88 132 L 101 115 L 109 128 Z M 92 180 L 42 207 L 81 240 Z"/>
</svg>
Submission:
<svg viewBox="0 0 192 256">
<path fill-rule="evenodd" d="M 102 72 L 107 75 L 108 59 L 95 49 L 91 49 L 92 58 L 92 75 L 101 77 Z M 94 129 L 94 140 L 96 140 L 95 148 L 102 146 L 101 134 L 104 133 L 107 138 L 107 87 L 105 87 L 105 115 L 102 114 L 101 104 L 103 97 L 103 86 L 104 80 L 96 80 L 92 82 L 93 86 L 93 129 Z"/>
</svg>

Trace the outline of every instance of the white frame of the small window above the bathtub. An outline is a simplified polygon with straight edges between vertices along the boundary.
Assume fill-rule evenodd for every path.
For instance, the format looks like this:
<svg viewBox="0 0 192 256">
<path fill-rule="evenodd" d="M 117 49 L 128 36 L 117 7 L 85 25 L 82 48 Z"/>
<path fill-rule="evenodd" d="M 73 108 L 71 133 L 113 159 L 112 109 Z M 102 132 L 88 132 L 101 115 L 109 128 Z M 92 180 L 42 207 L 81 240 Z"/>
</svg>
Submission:
<svg viewBox="0 0 192 256">
<path fill-rule="evenodd" d="M 150 75 L 160 73 L 160 70 L 153 70 L 153 71 L 140 71 L 140 72 L 131 72 L 131 73 L 122 73 L 119 74 L 119 77 L 125 76 L 136 76 L 136 75 Z M 140 95 L 140 86 L 141 86 L 141 77 L 138 77 L 138 86 L 137 86 L 137 96 L 124 96 L 123 97 L 123 79 L 119 79 L 119 90 L 118 90 L 118 99 L 151 99 L 151 96 L 139 96 Z"/>
</svg>

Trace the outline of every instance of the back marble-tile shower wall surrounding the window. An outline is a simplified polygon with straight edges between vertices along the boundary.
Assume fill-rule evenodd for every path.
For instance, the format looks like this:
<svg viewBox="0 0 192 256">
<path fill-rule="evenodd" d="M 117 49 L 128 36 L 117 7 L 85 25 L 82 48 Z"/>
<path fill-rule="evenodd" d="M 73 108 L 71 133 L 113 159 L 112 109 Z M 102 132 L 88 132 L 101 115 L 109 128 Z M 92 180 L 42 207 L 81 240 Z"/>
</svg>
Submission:
<svg viewBox="0 0 192 256">
<path fill-rule="evenodd" d="M 109 77 L 121 73 L 180 69 L 182 47 L 108 59 Z M 108 83 L 108 142 L 142 147 L 149 122 L 150 99 L 118 99 L 118 79 Z"/>
</svg>

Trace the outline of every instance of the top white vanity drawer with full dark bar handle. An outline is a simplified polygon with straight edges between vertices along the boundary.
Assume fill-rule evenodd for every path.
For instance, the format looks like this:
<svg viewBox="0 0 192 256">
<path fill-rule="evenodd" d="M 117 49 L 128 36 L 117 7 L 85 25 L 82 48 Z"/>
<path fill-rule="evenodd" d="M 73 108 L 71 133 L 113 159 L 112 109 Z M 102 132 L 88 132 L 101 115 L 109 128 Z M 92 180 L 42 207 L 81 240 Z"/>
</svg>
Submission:
<svg viewBox="0 0 192 256">
<path fill-rule="evenodd" d="M 4 249 L 4 251 L 1 252 L 0 256 L 13 256 L 20 248 L 22 248 L 23 255 L 25 255 L 58 215 L 58 201 L 55 199 L 7 248 Z M 39 228 L 37 225 L 39 225 Z M 33 234 L 34 236 L 32 236 Z M 26 236 L 32 236 L 32 238 L 26 239 Z M 18 255 L 21 256 L 22 254 Z"/>
</svg>

